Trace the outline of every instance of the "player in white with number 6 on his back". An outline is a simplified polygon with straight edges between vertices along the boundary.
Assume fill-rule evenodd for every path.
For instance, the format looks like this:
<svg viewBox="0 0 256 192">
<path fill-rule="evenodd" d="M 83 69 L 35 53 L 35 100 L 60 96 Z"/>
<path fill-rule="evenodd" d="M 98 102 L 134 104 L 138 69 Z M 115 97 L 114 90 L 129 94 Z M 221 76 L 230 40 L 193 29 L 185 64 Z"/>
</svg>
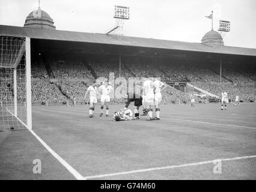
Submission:
<svg viewBox="0 0 256 192">
<path fill-rule="evenodd" d="M 153 106 L 154 106 L 154 82 L 153 78 L 150 77 L 148 80 L 145 80 L 143 83 L 143 93 L 145 95 L 145 107 L 147 108 L 148 117 L 147 121 L 153 119 Z"/>
</svg>

